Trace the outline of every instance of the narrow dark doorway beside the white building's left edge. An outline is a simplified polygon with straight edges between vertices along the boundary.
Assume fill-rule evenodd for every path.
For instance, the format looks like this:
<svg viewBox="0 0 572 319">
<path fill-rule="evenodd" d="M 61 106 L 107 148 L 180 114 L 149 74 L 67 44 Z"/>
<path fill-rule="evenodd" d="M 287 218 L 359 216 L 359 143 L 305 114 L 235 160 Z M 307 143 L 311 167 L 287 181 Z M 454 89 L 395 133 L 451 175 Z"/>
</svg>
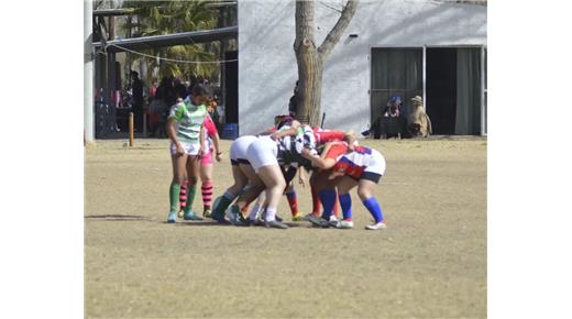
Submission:
<svg viewBox="0 0 572 319">
<path fill-rule="evenodd" d="M 229 51 L 224 54 L 224 59 L 235 59 L 224 64 L 224 119 L 227 123 L 239 122 L 239 52 Z"/>
</svg>

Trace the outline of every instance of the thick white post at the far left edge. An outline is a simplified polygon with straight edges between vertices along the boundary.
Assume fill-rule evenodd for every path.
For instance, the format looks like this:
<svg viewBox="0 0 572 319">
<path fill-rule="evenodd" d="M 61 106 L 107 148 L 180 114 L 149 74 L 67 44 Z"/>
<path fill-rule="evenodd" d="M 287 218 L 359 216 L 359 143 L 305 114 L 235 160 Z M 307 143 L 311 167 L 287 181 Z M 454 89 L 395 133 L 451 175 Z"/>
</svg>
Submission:
<svg viewBox="0 0 572 319">
<path fill-rule="evenodd" d="M 87 142 L 95 140 L 92 2 L 84 1 L 84 130 Z"/>
</svg>

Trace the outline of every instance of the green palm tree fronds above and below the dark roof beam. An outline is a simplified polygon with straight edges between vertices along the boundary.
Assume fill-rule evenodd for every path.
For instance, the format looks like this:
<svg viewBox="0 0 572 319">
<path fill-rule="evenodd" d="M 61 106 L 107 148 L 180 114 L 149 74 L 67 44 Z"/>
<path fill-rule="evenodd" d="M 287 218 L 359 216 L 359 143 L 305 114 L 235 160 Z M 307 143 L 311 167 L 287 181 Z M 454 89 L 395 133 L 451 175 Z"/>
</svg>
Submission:
<svg viewBox="0 0 572 319">
<path fill-rule="evenodd" d="M 217 12 L 209 9 L 207 1 L 124 1 L 123 8 L 134 8 L 136 21 L 128 22 L 124 29 L 136 30 L 134 36 L 163 35 L 212 29 L 217 25 Z M 217 48 L 216 45 L 211 45 Z M 215 62 L 217 55 L 208 52 L 204 44 L 175 45 L 145 50 L 143 53 L 174 61 Z M 216 63 L 195 64 L 160 61 L 144 56 L 147 70 L 158 69 L 158 76 L 210 75 L 218 68 Z M 147 72 L 147 82 L 152 74 Z"/>
</svg>

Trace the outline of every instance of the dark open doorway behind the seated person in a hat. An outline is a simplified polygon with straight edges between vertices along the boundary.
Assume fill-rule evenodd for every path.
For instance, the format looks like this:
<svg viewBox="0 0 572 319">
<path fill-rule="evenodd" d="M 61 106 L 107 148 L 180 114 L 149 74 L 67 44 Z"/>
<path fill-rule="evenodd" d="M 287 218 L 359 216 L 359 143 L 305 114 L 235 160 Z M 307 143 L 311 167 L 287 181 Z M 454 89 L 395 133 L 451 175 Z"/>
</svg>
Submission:
<svg viewBox="0 0 572 319">
<path fill-rule="evenodd" d="M 433 134 L 454 134 L 457 48 L 429 47 L 426 63 L 426 108 L 431 119 Z"/>
</svg>

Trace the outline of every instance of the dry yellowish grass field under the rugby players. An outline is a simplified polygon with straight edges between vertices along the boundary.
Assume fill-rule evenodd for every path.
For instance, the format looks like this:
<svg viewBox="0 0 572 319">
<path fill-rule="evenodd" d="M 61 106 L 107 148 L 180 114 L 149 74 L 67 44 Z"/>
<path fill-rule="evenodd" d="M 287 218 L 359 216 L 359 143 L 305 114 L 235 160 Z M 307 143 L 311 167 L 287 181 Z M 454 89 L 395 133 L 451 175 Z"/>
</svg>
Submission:
<svg viewBox="0 0 572 319">
<path fill-rule="evenodd" d="M 88 145 L 86 317 L 485 318 L 486 139 L 362 144 L 387 161 L 384 231 L 363 229 L 355 194 L 353 230 L 167 224 L 168 141 Z M 232 184 L 229 146 L 216 196 Z M 308 212 L 310 191 L 297 190 Z M 278 213 L 289 221 L 286 199 Z"/>
</svg>

